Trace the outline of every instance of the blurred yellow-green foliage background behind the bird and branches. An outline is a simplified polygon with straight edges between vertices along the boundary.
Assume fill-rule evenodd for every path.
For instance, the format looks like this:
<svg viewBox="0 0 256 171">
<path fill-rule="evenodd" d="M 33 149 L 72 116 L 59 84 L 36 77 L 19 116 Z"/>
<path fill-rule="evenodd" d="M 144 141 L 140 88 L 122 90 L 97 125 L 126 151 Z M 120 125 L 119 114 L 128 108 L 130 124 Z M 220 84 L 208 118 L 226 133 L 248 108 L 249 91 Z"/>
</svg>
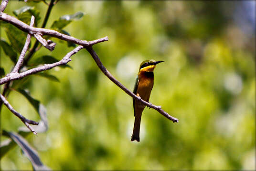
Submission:
<svg viewBox="0 0 256 171">
<path fill-rule="evenodd" d="M 43 3 L 11 0 L 5 10 Z M 62 1 L 46 28 L 65 14 L 85 16 L 65 30 L 94 40 L 107 69 L 130 90 L 139 64 L 164 60 L 155 69 L 149 101 L 179 123 L 146 108 L 140 140 L 130 142 L 132 98 L 100 72 L 86 50 L 70 68 L 48 71 L 53 82 L 31 76 L 22 85 L 47 108 L 49 130 L 26 139 L 53 170 L 255 170 L 255 1 Z M 1 37 L 6 38 L 1 29 Z M 7 39 L 7 38 L 6 38 Z M 34 39 L 32 40 L 32 42 Z M 58 59 L 74 47 L 53 39 L 53 52 L 41 48 L 33 58 Z M 11 60 L 1 51 L 1 67 Z M 9 98 L 27 118 L 39 116 L 19 93 Z M 5 106 L 1 129 L 16 132 L 23 123 Z M 2 170 L 31 170 L 19 147 L 1 160 Z"/>
</svg>

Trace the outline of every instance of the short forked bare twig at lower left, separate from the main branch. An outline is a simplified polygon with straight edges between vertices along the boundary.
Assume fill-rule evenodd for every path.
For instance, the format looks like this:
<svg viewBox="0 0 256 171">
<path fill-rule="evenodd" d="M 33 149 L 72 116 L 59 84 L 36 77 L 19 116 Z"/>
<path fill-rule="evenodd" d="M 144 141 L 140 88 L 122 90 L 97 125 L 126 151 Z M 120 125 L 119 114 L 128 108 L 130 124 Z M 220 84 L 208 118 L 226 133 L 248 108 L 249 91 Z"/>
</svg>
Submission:
<svg viewBox="0 0 256 171">
<path fill-rule="evenodd" d="M 29 120 L 27 118 L 25 118 L 24 116 L 22 116 L 20 113 L 18 113 L 16 110 L 13 109 L 13 107 L 11 106 L 11 104 L 6 100 L 6 98 L 0 94 L 0 100 L 3 102 L 4 105 L 6 105 L 6 107 L 13 113 L 15 114 L 18 118 L 21 119 L 21 121 L 28 127 L 28 129 L 30 129 L 30 131 L 34 134 L 37 134 L 35 132 L 35 130 L 30 126 L 30 124 L 34 124 L 34 125 L 38 125 L 38 122 Z"/>
</svg>

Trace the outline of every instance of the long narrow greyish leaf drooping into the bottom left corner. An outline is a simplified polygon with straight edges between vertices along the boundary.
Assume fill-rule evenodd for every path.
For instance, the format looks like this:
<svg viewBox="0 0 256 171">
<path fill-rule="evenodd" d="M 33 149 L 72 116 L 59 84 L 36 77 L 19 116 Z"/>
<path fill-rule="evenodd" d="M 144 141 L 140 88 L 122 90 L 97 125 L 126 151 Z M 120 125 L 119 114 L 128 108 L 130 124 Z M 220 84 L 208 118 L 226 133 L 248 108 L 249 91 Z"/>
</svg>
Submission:
<svg viewBox="0 0 256 171">
<path fill-rule="evenodd" d="M 30 160 L 32 163 L 32 167 L 35 171 L 49 171 L 50 168 L 43 165 L 38 152 L 32 148 L 32 146 L 25 140 L 21 135 L 14 132 L 2 131 L 3 135 L 10 137 L 14 142 L 16 142 L 21 150 L 24 152 L 24 155 Z"/>
</svg>

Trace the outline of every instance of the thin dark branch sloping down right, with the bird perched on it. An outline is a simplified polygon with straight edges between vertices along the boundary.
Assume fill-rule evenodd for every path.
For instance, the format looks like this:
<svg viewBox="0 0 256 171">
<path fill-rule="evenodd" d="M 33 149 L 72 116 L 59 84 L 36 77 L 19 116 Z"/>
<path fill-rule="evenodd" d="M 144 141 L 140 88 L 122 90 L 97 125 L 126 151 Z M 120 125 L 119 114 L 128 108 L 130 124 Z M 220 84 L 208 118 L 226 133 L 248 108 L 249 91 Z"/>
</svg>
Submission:
<svg viewBox="0 0 256 171">
<path fill-rule="evenodd" d="M 166 118 L 170 119 L 172 122 L 179 122 L 179 120 L 175 117 L 172 117 L 170 114 L 165 112 L 164 110 L 161 109 L 161 106 L 156 106 L 154 104 L 151 104 L 149 102 L 146 102 L 145 100 L 141 99 L 139 96 L 133 94 L 128 88 L 126 88 L 124 85 L 122 85 L 114 76 L 110 74 L 110 72 L 107 70 L 107 68 L 102 64 L 100 61 L 98 55 L 96 52 L 93 50 L 91 46 L 85 47 L 87 51 L 91 54 L 93 59 L 95 60 L 97 66 L 100 68 L 100 70 L 113 82 L 115 83 L 118 87 L 120 87 L 124 92 L 126 92 L 128 95 L 133 97 L 134 99 L 140 101 L 142 104 L 145 104 L 146 106 L 149 106 L 150 108 L 153 108 L 157 110 L 160 114 L 165 116 Z"/>
</svg>

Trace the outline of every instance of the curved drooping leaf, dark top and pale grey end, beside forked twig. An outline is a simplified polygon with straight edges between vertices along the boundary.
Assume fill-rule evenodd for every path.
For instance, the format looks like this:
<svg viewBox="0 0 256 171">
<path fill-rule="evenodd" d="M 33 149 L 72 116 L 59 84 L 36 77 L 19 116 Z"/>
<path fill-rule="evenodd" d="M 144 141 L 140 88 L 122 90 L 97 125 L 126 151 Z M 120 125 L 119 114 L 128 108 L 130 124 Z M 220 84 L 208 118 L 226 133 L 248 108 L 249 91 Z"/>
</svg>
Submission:
<svg viewBox="0 0 256 171">
<path fill-rule="evenodd" d="M 40 101 L 34 99 L 30 95 L 30 92 L 28 90 L 23 90 L 23 89 L 19 88 L 17 91 L 27 98 L 27 100 L 32 104 L 32 106 L 34 107 L 36 112 L 40 115 L 41 120 L 39 121 L 39 124 L 33 125 L 33 128 L 35 129 L 35 131 L 38 133 L 43 133 L 43 132 L 47 131 L 48 120 L 47 120 L 47 116 L 46 116 L 46 108 L 44 107 L 44 105 L 41 104 Z M 26 126 L 20 127 L 19 130 L 23 131 L 23 132 L 30 131 L 30 130 L 28 130 L 28 128 Z"/>
</svg>

